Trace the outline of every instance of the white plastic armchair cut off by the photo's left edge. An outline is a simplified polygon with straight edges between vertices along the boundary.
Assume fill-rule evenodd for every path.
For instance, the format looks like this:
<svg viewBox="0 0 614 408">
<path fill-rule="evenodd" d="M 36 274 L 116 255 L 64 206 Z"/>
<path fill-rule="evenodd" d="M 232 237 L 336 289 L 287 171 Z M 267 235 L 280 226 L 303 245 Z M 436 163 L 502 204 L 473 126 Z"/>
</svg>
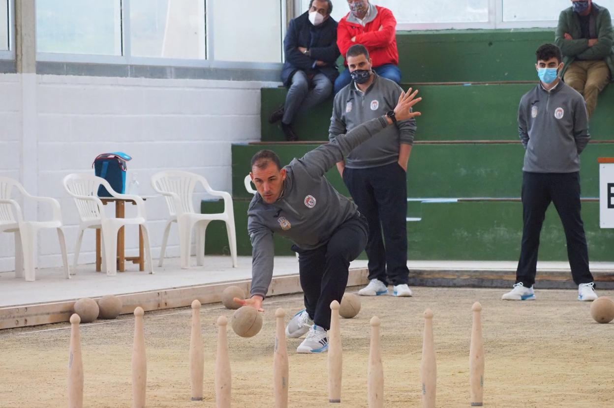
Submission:
<svg viewBox="0 0 614 408">
<path fill-rule="evenodd" d="M 45 202 L 50 204 L 53 217 L 50 221 L 24 221 L 21 207 L 18 202 L 11 198 L 13 189 L 17 190 L 24 199 Z M 64 275 L 70 279 L 68 269 L 68 256 L 66 255 L 66 240 L 62 228 L 62 215 L 60 203 L 53 198 L 34 197 L 23 186 L 9 177 L 0 177 L 0 233 L 15 233 L 15 277 L 23 277 L 33 281 L 35 277 L 36 248 L 34 241 L 39 229 L 55 228 L 58 232 L 62 261 L 64 263 Z"/>
</svg>

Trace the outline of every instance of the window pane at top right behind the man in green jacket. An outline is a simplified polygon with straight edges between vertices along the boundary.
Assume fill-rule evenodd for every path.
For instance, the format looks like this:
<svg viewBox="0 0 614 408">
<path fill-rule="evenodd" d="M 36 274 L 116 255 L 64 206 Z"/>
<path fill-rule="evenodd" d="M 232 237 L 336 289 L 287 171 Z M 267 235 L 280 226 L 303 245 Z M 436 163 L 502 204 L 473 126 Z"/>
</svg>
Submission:
<svg viewBox="0 0 614 408">
<path fill-rule="evenodd" d="M 525 0 L 502 0 L 503 21 L 558 21 L 561 10 L 571 6 L 569 0 L 540 0 L 527 3 Z M 610 12 L 614 0 L 599 0 Z"/>
</svg>

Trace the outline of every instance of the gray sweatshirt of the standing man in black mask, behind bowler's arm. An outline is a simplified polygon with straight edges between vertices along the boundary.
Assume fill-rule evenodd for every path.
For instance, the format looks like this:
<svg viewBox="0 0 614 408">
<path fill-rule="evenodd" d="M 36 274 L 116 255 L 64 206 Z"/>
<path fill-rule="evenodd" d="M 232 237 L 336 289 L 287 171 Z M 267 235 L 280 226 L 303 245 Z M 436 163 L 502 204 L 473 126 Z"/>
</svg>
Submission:
<svg viewBox="0 0 614 408">
<path fill-rule="evenodd" d="M 374 72 L 375 74 L 375 72 Z M 386 112 L 397 106 L 401 87 L 394 81 L 379 77 L 365 93 L 356 89 L 354 81 L 344 87 L 335 96 L 333 116 L 330 118 L 328 139 L 333 140 L 340 134 L 373 118 L 386 115 Z M 416 133 L 416 120 L 400 121 L 398 126 L 389 126 L 378 137 L 367 140 L 348 154 L 346 167 L 350 169 L 366 169 L 368 167 L 386 166 L 398 160 L 400 144 L 411 145 Z"/>
</svg>

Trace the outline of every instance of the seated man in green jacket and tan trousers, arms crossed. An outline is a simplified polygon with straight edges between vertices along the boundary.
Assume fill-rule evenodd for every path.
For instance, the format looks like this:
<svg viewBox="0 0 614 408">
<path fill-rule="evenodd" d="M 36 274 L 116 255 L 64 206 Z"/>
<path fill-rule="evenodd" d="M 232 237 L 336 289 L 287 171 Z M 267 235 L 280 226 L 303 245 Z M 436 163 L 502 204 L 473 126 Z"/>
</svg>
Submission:
<svg viewBox="0 0 614 408">
<path fill-rule="evenodd" d="M 614 78 L 610 12 L 592 0 L 572 0 L 572 7 L 559 16 L 555 42 L 565 57 L 561 76 L 584 96 L 590 118 L 599 92 Z"/>
</svg>

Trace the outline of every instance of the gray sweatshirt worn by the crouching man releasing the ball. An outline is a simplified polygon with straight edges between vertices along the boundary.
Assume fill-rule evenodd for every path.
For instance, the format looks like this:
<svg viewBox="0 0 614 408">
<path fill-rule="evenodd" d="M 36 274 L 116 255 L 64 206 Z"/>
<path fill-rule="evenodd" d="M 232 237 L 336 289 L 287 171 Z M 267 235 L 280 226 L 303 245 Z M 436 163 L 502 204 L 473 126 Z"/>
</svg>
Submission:
<svg viewBox="0 0 614 408">
<path fill-rule="evenodd" d="M 324 177 L 352 149 L 378 133 L 387 122 L 379 117 L 332 142 L 321 145 L 286 167 L 281 197 L 267 204 L 256 193 L 247 210 L 247 231 L 252 241 L 252 295 L 265 296 L 273 277 L 273 233 L 311 250 L 326 244 L 335 229 L 358 217 L 356 204 L 339 194 Z"/>
</svg>

